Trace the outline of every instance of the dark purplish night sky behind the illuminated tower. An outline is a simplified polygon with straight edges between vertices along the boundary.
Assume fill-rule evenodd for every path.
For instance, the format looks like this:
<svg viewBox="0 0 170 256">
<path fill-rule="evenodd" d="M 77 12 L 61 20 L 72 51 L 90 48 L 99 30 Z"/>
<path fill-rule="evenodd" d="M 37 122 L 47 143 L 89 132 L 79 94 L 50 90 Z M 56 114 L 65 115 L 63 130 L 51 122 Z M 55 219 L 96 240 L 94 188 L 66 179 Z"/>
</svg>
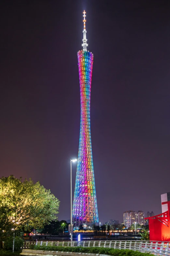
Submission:
<svg viewBox="0 0 170 256">
<path fill-rule="evenodd" d="M 0 176 L 39 180 L 70 218 L 84 9 L 99 221 L 159 214 L 170 191 L 169 0 L 1 1 Z"/>
</svg>

